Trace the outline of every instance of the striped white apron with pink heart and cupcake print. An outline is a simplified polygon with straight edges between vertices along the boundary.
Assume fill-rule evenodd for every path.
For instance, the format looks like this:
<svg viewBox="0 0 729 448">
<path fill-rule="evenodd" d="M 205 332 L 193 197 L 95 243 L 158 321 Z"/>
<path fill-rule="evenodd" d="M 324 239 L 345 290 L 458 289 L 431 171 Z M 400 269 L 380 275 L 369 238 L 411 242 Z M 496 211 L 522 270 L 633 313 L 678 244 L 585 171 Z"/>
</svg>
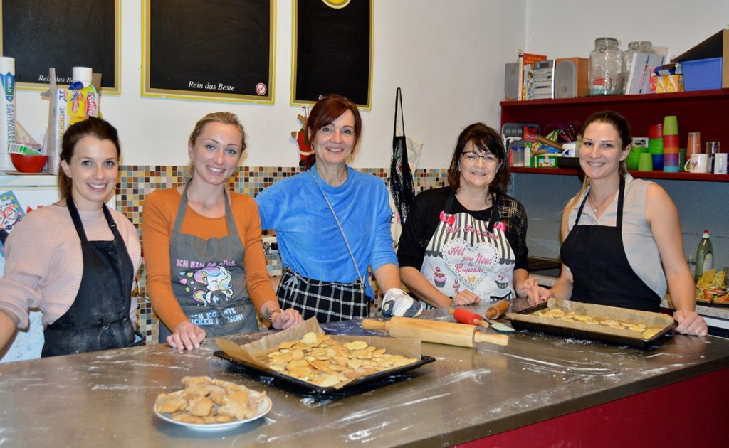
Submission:
<svg viewBox="0 0 729 448">
<path fill-rule="evenodd" d="M 488 221 L 469 213 L 451 214 L 455 199 L 451 192 L 420 272 L 449 297 L 468 290 L 481 300 L 512 298 L 516 259 L 506 238 L 506 225 L 499 219 L 496 197 Z"/>
</svg>

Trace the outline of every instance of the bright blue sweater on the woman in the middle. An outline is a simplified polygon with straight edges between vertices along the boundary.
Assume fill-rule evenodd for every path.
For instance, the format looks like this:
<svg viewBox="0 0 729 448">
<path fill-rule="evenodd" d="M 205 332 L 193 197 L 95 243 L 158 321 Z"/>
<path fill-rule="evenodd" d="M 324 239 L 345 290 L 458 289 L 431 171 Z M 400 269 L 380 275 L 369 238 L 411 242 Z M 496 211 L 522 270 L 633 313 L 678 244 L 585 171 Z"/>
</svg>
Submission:
<svg viewBox="0 0 729 448">
<path fill-rule="evenodd" d="M 315 164 L 309 171 L 264 189 L 256 197 L 261 227 L 276 231 L 284 267 L 316 280 L 356 280 L 354 263 L 313 173 L 337 213 L 365 278 L 367 295 L 373 297 L 367 266 L 373 272 L 384 264 L 397 266 L 390 233 L 389 193 L 382 179 L 349 166 L 346 169 L 346 181 L 340 186 L 330 186 L 321 179 Z"/>
</svg>

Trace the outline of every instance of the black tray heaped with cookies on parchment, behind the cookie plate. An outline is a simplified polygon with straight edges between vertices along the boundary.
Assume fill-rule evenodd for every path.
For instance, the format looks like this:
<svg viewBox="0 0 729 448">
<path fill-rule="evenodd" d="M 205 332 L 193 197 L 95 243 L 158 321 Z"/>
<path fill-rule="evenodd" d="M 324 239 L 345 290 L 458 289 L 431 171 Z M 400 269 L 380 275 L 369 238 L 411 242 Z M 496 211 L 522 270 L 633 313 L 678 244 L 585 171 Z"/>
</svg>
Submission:
<svg viewBox="0 0 729 448">
<path fill-rule="evenodd" d="M 310 319 L 246 345 L 218 338 L 214 355 L 319 394 L 375 382 L 435 361 L 420 339 L 324 334 Z"/>
</svg>

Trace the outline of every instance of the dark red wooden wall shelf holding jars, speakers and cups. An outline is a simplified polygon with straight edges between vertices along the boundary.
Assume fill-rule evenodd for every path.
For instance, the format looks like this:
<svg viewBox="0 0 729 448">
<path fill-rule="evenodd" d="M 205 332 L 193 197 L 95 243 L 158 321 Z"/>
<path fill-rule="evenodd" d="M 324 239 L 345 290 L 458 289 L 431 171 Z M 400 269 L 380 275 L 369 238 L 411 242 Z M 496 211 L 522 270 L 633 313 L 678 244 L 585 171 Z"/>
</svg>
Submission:
<svg viewBox="0 0 729 448">
<path fill-rule="evenodd" d="M 582 123 L 596 111 L 612 110 L 623 114 L 631 124 L 634 137 L 647 137 L 648 127 L 675 115 L 679 123 L 679 142 L 686 146 L 689 132 L 700 132 L 701 142 L 720 141 L 729 152 L 729 89 L 650 95 L 615 95 L 559 100 L 502 101 L 501 122 L 536 123 L 542 130 L 572 123 L 579 132 Z M 577 175 L 579 169 L 512 168 L 514 173 Z M 704 173 L 631 172 L 634 177 L 692 181 L 729 181 L 729 175 Z"/>
</svg>

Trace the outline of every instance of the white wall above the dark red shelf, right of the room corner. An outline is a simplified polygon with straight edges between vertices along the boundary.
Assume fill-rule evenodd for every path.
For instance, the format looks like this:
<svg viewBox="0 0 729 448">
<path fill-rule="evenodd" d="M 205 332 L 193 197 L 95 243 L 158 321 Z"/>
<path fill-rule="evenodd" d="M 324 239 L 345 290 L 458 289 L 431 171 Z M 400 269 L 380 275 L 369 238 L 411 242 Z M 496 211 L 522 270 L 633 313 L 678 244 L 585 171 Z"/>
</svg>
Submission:
<svg viewBox="0 0 729 448">
<path fill-rule="evenodd" d="M 598 37 L 620 48 L 647 40 L 680 55 L 729 27 L 729 1 L 526 0 L 526 50 L 548 58 L 588 58 Z"/>
</svg>

